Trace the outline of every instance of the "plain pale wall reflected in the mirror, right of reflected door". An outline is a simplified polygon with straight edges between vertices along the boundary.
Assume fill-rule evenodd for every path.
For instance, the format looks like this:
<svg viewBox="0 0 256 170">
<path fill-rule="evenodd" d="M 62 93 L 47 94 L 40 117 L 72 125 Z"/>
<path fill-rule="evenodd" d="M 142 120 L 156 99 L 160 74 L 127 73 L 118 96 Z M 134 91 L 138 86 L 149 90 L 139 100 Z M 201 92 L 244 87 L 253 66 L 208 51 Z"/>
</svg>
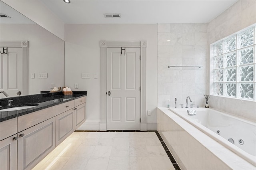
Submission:
<svg viewBox="0 0 256 170">
<path fill-rule="evenodd" d="M 37 24 L 0 24 L 1 41 L 28 40 L 28 94 L 64 85 L 64 41 Z M 31 79 L 31 73 L 35 78 Z M 48 73 L 39 79 L 38 73 Z"/>
</svg>

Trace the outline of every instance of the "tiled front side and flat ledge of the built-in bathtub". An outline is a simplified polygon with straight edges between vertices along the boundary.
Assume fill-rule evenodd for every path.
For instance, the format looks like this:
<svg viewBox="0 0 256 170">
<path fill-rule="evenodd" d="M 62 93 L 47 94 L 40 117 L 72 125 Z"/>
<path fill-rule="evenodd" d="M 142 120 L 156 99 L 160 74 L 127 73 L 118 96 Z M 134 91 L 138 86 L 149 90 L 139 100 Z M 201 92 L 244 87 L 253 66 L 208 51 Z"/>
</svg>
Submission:
<svg viewBox="0 0 256 170">
<path fill-rule="evenodd" d="M 212 140 L 208 135 L 194 128 L 168 109 L 160 108 L 157 114 L 158 125 L 160 125 L 158 132 L 182 169 L 255 169 L 255 166 L 219 142 Z M 177 127 L 172 127 L 177 129 L 175 131 L 178 133 L 177 136 L 173 133 L 174 131 L 161 126 L 166 119 L 172 119 L 167 122 L 176 124 Z"/>
</svg>

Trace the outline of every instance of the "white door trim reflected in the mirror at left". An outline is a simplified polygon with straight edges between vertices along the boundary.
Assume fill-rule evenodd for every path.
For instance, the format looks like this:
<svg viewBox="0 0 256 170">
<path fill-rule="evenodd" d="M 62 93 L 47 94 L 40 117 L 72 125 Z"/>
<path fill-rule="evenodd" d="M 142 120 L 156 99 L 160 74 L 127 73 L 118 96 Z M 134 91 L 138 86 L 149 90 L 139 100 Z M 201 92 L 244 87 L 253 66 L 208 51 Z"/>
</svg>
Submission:
<svg viewBox="0 0 256 170">
<path fill-rule="evenodd" d="M 22 42 L 0 42 L 0 47 L 22 48 L 22 95 L 28 95 L 28 41 Z"/>
</svg>

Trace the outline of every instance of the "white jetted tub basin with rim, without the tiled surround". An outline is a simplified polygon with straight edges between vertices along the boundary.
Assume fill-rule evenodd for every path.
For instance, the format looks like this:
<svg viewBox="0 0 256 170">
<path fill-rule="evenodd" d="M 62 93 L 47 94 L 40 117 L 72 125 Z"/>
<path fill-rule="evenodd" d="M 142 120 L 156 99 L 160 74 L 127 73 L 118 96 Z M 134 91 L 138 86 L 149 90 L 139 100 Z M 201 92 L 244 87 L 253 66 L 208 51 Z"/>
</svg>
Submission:
<svg viewBox="0 0 256 170">
<path fill-rule="evenodd" d="M 188 109 L 169 110 L 256 166 L 256 123 L 210 108 L 193 108 L 196 115 L 188 115 Z M 234 144 L 228 142 L 229 138 L 234 140 Z M 242 145 L 239 144 L 241 139 Z"/>
</svg>

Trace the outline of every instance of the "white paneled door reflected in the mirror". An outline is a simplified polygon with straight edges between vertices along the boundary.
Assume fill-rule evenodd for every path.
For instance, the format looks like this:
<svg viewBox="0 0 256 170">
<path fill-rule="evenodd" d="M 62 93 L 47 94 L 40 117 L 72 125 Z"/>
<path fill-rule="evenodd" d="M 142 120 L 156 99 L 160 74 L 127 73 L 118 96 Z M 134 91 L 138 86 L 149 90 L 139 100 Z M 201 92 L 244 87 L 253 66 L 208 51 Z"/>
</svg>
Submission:
<svg viewBox="0 0 256 170">
<path fill-rule="evenodd" d="M 12 97 L 17 96 L 18 91 L 22 94 L 22 48 L 8 47 L 8 53 L 1 54 L 0 91 Z"/>
</svg>

